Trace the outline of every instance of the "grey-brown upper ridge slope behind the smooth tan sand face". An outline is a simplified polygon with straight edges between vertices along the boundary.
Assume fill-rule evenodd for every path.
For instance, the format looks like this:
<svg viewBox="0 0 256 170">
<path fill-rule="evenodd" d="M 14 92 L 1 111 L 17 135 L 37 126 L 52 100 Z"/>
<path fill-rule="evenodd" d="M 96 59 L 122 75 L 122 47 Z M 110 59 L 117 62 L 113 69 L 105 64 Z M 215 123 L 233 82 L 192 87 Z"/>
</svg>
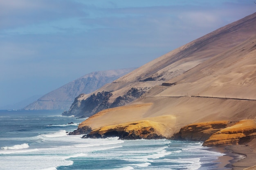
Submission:
<svg viewBox="0 0 256 170">
<path fill-rule="evenodd" d="M 194 40 L 161 57 L 158 57 L 144 66 L 141 66 L 128 73 L 127 75 L 120 77 L 113 83 L 103 86 L 93 93 L 101 91 L 113 91 L 113 96 L 110 100 L 110 102 L 113 102 L 116 97 L 124 95 L 132 87 L 151 88 L 156 85 L 161 85 L 163 82 L 173 79 L 178 75 L 182 75 L 184 72 L 190 70 L 198 64 L 210 61 L 208 59 L 216 57 L 216 55 L 219 55 L 244 42 L 245 40 L 256 36 L 255 30 L 256 13 L 228 24 L 227 26 L 217 29 L 216 31 L 204 35 L 197 40 Z M 205 65 L 205 67 L 207 66 Z M 204 72 L 204 75 L 209 74 L 211 74 L 211 70 L 206 70 Z M 218 75 L 218 73 L 216 73 L 216 75 Z M 154 81 L 148 81 L 149 79 Z M 181 79 L 175 79 L 172 81 L 178 80 L 180 81 Z M 223 80 L 219 79 L 218 81 L 215 83 L 221 84 Z M 178 95 L 181 95 L 181 93 L 188 93 L 188 91 L 179 90 L 177 93 L 179 93 Z M 199 91 L 193 93 L 199 93 Z M 218 91 L 212 91 L 210 95 L 220 95 L 220 93 L 218 93 Z M 225 94 L 221 95 L 223 96 Z M 237 95 L 242 97 L 240 94 Z M 90 94 L 84 95 L 81 97 L 81 100 L 86 99 L 88 96 L 90 96 Z M 247 95 L 246 97 L 249 96 Z"/>
</svg>

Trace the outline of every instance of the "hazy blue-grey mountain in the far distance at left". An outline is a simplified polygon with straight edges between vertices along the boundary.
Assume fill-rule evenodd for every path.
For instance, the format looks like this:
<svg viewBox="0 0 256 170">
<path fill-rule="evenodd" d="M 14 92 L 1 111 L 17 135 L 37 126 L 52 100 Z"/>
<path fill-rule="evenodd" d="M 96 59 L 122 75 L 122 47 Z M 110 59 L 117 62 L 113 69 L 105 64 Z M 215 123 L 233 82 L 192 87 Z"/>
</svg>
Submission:
<svg viewBox="0 0 256 170">
<path fill-rule="evenodd" d="M 84 93 L 92 93 L 103 85 L 133 71 L 135 68 L 125 68 L 109 71 L 98 71 L 86 74 L 60 88 L 57 88 L 35 102 L 27 105 L 25 110 L 68 110 L 74 99 Z"/>
</svg>

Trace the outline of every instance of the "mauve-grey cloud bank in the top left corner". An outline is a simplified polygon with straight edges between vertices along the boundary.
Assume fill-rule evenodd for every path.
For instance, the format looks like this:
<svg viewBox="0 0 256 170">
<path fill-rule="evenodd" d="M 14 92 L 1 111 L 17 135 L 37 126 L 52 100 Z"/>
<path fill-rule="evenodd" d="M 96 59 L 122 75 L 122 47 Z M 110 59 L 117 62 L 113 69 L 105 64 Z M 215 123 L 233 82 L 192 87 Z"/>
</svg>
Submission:
<svg viewBox="0 0 256 170">
<path fill-rule="evenodd" d="M 85 5 L 70 0 L 0 0 L 0 29 L 88 15 Z"/>
</svg>

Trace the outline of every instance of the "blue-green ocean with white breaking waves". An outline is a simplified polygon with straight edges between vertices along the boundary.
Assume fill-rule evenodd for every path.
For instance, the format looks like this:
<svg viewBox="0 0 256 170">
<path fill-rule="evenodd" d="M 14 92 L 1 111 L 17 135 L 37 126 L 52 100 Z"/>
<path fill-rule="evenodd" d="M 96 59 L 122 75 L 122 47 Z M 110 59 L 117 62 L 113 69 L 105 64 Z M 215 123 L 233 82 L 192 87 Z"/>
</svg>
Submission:
<svg viewBox="0 0 256 170">
<path fill-rule="evenodd" d="M 1 170 L 211 170 L 222 153 L 200 142 L 82 139 L 84 119 L 57 111 L 0 110 Z M 74 124 L 68 124 L 73 122 Z"/>
</svg>

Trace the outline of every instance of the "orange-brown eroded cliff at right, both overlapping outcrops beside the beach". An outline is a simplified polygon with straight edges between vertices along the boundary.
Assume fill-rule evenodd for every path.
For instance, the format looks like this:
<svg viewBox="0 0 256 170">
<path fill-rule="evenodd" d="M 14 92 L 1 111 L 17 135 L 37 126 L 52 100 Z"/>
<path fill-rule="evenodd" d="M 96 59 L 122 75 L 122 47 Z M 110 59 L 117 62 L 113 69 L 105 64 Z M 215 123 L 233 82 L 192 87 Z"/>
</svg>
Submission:
<svg viewBox="0 0 256 170">
<path fill-rule="evenodd" d="M 182 127 L 173 138 L 204 141 L 203 146 L 246 145 L 256 138 L 256 122 L 249 119 L 190 124 Z"/>
</svg>

